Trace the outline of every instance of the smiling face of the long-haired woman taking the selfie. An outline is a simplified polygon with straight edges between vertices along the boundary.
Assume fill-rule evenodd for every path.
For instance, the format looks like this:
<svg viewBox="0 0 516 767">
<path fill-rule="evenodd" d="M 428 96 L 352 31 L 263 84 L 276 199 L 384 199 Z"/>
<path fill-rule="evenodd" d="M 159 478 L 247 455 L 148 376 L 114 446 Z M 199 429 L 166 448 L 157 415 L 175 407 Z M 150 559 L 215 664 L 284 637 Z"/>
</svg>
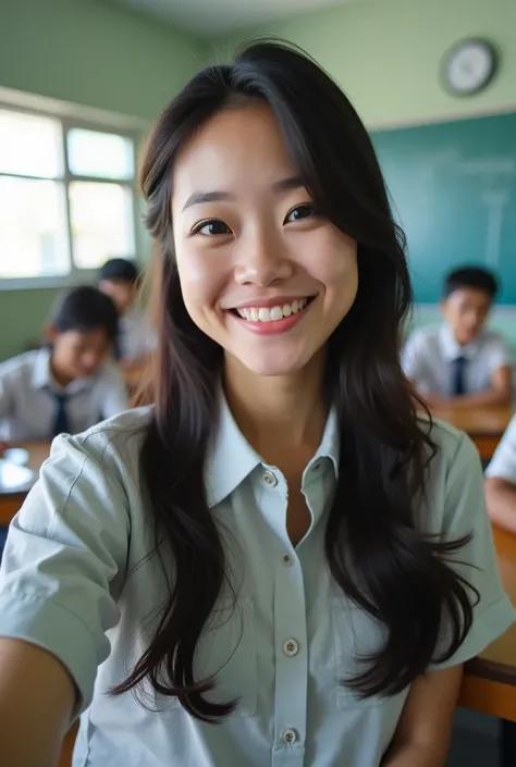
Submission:
<svg viewBox="0 0 516 767">
<path fill-rule="evenodd" d="M 303 369 L 349 311 L 356 242 L 318 213 L 265 103 L 220 112 L 180 152 L 172 215 L 191 318 L 250 371 Z"/>
</svg>

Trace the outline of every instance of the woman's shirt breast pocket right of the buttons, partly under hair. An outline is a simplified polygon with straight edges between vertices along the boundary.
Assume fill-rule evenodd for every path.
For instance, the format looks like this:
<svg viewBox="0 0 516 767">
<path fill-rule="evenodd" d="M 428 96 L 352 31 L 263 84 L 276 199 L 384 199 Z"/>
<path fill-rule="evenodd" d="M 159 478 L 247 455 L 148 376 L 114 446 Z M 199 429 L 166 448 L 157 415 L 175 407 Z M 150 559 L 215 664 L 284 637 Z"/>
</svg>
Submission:
<svg viewBox="0 0 516 767">
<path fill-rule="evenodd" d="M 386 629 L 363 608 L 353 603 L 332 601 L 332 630 L 335 651 L 336 704 L 341 710 L 373 708 L 390 705 L 390 714 L 401 715 L 408 688 L 396 695 L 360 697 L 346 680 L 364 672 L 385 641 Z"/>
</svg>

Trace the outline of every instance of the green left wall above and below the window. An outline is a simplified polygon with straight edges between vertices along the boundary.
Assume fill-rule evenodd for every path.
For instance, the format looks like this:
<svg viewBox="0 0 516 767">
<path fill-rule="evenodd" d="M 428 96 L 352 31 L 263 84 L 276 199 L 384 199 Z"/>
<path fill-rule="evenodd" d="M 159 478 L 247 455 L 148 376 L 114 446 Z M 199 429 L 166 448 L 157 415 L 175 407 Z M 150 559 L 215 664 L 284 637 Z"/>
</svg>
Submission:
<svg viewBox="0 0 516 767">
<path fill-rule="evenodd" d="M 103 0 L 0 0 L 0 86 L 153 120 L 206 42 Z M 0 360 L 37 338 L 56 290 L 0 293 Z"/>
</svg>

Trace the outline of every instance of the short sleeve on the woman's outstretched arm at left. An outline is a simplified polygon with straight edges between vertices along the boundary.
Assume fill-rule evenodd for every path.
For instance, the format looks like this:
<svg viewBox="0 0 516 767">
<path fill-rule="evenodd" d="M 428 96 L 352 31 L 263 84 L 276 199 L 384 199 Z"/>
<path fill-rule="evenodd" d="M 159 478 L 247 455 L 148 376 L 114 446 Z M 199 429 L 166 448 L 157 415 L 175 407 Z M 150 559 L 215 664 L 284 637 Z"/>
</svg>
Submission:
<svg viewBox="0 0 516 767">
<path fill-rule="evenodd" d="M 113 471 L 63 435 L 11 522 L 0 568 L 0 636 L 52 653 L 89 705 L 106 631 L 119 621 L 114 592 L 124 577 L 130 523 Z"/>
</svg>

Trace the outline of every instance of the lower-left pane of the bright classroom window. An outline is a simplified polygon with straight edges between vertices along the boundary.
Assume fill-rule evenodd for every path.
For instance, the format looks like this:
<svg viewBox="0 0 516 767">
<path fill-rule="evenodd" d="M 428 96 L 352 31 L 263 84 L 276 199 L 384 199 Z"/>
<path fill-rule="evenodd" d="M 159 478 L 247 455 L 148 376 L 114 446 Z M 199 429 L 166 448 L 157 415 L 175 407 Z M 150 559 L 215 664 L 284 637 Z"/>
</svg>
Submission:
<svg viewBox="0 0 516 767">
<path fill-rule="evenodd" d="M 67 274 L 61 183 L 0 176 L 0 277 Z"/>
</svg>

